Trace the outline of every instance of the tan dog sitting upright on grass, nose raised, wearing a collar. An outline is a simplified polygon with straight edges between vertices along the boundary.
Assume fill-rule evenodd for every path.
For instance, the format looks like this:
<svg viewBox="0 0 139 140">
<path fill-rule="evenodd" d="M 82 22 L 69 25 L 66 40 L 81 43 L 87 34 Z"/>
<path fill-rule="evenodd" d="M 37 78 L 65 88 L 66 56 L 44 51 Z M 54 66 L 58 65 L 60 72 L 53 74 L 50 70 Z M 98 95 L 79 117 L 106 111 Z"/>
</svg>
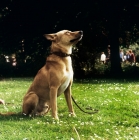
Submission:
<svg viewBox="0 0 139 140">
<path fill-rule="evenodd" d="M 75 116 L 71 101 L 73 70 L 70 55 L 72 46 L 81 40 L 83 32 L 62 30 L 44 36 L 52 41 L 51 54 L 23 98 L 22 113 L 43 115 L 51 109 L 52 117 L 58 120 L 57 97 L 64 93 L 69 113 Z"/>
</svg>

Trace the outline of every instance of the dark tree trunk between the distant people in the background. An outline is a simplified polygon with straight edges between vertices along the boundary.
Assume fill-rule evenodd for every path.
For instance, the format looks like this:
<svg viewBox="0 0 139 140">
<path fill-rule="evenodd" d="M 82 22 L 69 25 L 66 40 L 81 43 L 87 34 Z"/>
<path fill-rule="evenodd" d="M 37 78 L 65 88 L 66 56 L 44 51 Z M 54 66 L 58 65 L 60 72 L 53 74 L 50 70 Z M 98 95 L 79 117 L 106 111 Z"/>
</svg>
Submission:
<svg viewBox="0 0 139 140">
<path fill-rule="evenodd" d="M 116 8 L 111 10 L 109 18 L 110 49 L 111 49 L 111 74 L 121 76 L 122 68 L 119 55 L 119 14 Z"/>
</svg>

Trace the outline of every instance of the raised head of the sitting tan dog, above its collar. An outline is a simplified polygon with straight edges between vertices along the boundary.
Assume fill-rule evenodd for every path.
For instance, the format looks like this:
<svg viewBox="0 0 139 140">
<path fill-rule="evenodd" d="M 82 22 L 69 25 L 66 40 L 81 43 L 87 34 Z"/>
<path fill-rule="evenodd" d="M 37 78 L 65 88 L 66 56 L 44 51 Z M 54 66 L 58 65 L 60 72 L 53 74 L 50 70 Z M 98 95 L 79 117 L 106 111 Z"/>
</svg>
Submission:
<svg viewBox="0 0 139 140">
<path fill-rule="evenodd" d="M 62 30 L 54 34 L 44 35 L 48 40 L 64 46 L 72 46 L 82 39 L 83 31 L 68 31 Z"/>
</svg>

